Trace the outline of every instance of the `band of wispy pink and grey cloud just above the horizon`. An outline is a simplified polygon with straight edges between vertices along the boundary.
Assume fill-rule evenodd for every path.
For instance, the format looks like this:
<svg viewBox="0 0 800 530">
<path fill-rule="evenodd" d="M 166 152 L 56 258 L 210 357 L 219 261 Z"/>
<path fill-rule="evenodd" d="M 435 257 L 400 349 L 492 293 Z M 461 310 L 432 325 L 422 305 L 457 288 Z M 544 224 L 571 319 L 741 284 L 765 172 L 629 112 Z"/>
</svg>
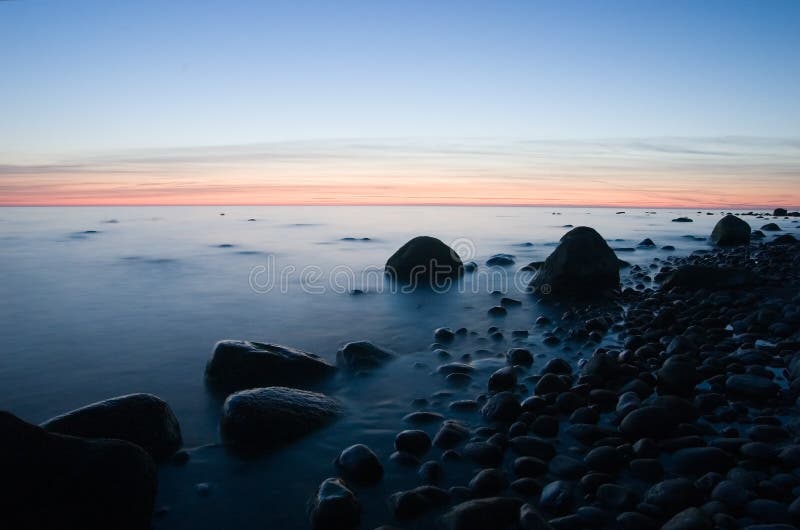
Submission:
<svg viewBox="0 0 800 530">
<path fill-rule="evenodd" d="M 0 165 L 0 203 L 798 205 L 800 140 L 319 140 Z"/>
</svg>

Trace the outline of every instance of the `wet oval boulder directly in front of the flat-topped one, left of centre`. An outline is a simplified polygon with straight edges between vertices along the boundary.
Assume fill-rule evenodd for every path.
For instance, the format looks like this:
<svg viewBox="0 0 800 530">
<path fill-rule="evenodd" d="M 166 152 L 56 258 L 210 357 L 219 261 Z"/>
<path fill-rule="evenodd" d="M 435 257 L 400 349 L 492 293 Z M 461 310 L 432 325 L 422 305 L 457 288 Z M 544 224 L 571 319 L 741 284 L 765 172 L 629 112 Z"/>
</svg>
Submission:
<svg viewBox="0 0 800 530">
<path fill-rule="evenodd" d="M 242 449 L 270 449 L 331 423 L 341 404 L 324 394 L 267 387 L 228 396 L 220 426 L 226 441 Z"/>
</svg>

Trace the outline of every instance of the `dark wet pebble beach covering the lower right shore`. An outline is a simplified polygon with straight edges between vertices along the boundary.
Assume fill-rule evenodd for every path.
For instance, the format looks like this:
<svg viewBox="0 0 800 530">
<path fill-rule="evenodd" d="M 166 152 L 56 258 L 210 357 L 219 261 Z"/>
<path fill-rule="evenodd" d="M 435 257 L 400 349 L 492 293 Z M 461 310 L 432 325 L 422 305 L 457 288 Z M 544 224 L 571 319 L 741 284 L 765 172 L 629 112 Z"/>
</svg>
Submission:
<svg viewBox="0 0 800 530">
<path fill-rule="evenodd" d="M 565 313 L 565 358 L 538 367 L 513 348 L 484 392 L 450 403 L 452 417 L 415 402 L 388 461 L 345 449 L 312 525 L 356 528 L 354 491 L 391 465 L 419 486 L 387 499 L 381 530 L 795 528 L 800 245 L 655 258 L 623 284 L 613 302 Z M 439 355 L 459 331 L 437 330 Z M 595 347 L 574 363 L 576 342 Z M 436 371 L 477 374 L 460 362 Z"/>
</svg>

